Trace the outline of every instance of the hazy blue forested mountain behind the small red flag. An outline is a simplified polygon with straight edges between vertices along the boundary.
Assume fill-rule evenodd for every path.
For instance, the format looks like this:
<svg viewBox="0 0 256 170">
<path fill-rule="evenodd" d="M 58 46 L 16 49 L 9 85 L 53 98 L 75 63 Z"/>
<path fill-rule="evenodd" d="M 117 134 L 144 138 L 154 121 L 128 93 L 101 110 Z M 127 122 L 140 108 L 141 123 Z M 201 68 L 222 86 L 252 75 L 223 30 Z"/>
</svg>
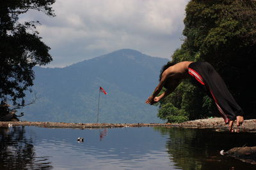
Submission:
<svg viewBox="0 0 256 170">
<path fill-rule="evenodd" d="M 145 104 L 167 59 L 136 50 L 118 50 L 63 68 L 35 67 L 36 103 L 24 107 L 21 120 L 46 122 L 161 122 L 157 107 Z M 108 95 L 99 93 L 103 87 Z M 99 97 L 100 94 L 100 97 Z"/>
</svg>

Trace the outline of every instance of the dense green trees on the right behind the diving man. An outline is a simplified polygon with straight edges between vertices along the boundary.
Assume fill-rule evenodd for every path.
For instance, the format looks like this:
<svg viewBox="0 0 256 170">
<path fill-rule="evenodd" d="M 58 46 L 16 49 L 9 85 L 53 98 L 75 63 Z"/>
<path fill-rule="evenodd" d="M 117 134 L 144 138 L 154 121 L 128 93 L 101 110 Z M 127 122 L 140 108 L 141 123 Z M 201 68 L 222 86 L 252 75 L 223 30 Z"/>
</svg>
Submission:
<svg viewBox="0 0 256 170">
<path fill-rule="evenodd" d="M 220 73 L 245 116 L 256 112 L 253 69 L 256 66 L 256 1 L 191 0 L 186 6 L 184 43 L 172 56 L 176 62 L 205 60 Z M 160 104 L 160 115 L 188 115 L 189 119 L 211 116 L 214 103 L 195 81 L 184 81 Z M 170 103 L 173 103 L 172 105 Z M 173 107 L 177 108 L 174 110 Z M 207 114 L 205 114 L 207 113 Z M 181 117 L 183 117 L 181 115 Z"/>
</svg>

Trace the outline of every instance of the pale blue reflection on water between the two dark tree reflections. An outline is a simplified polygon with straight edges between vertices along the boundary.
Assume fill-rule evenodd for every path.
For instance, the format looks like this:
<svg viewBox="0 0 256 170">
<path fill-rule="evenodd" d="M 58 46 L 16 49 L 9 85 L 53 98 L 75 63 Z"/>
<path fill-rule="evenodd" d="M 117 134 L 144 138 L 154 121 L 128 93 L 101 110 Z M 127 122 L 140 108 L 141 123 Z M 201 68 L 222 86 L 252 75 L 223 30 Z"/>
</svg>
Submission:
<svg viewBox="0 0 256 170">
<path fill-rule="evenodd" d="M 29 128 L 31 129 L 31 128 Z M 172 169 L 164 147 L 167 136 L 152 128 L 35 129 L 38 154 L 51 154 L 54 168 Z M 106 135 L 108 132 L 108 135 Z M 84 143 L 77 143 L 77 137 Z M 101 141 L 99 136 L 102 136 Z M 171 166 L 170 166 L 171 165 Z"/>
</svg>

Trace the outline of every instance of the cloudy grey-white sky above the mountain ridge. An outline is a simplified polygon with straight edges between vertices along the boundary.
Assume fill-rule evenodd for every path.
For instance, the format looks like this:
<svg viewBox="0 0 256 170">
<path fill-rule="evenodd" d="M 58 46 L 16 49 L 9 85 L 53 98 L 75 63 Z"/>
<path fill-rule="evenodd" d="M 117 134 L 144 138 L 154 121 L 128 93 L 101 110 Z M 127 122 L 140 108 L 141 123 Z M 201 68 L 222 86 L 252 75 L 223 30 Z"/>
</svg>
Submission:
<svg viewBox="0 0 256 170">
<path fill-rule="evenodd" d="M 53 59 L 46 67 L 65 67 L 123 48 L 171 59 L 182 44 L 188 1 L 56 0 L 56 17 L 28 11 L 20 22 L 40 22 L 36 30 Z"/>
</svg>

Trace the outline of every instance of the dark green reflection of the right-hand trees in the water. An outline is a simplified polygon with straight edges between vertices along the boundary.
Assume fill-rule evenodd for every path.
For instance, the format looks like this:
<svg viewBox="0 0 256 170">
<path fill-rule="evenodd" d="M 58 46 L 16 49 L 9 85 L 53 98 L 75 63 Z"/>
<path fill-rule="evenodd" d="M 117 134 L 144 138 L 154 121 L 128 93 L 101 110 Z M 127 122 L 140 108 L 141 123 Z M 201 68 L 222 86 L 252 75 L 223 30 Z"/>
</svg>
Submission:
<svg viewBox="0 0 256 170">
<path fill-rule="evenodd" d="M 182 169 L 253 169 L 255 166 L 229 157 L 221 157 L 220 150 L 239 146 L 253 146 L 255 134 L 214 132 L 207 129 L 155 127 L 163 135 L 169 135 L 166 148 L 170 159 Z M 252 167 L 253 166 L 253 167 Z"/>
</svg>

